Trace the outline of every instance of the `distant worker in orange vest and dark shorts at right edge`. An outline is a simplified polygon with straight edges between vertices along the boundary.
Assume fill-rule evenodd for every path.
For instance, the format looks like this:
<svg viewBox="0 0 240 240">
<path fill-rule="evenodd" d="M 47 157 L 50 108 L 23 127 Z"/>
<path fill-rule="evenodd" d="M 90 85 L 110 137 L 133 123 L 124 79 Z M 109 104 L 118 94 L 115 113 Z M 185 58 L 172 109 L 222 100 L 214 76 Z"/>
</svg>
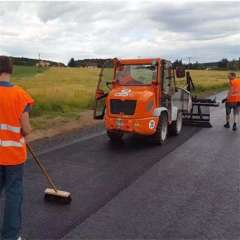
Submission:
<svg viewBox="0 0 240 240">
<path fill-rule="evenodd" d="M 237 130 L 237 117 L 239 117 L 240 109 L 240 79 L 236 78 L 236 73 L 229 73 L 228 79 L 230 83 L 230 90 L 227 98 L 223 99 L 222 102 L 226 102 L 226 124 L 225 128 L 230 128 L 230 115 L 233 110 L 233 131 Z"/>
</svg>

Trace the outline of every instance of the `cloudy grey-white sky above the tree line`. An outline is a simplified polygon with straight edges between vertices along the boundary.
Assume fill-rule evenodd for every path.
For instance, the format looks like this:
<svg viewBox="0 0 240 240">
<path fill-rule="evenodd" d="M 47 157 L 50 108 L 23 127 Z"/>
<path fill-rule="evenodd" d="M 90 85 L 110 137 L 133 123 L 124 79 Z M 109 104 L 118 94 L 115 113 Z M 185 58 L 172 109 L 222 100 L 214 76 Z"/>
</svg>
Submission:
<svg viewBox="0 0 240 240">
<path fill-rule="evenodd" d="M 180 2 L 180 1 L 179 1 Z M 0 54 L 71 57 L 240 57 L 240 2 L 0 2 Z"/>
</svg>

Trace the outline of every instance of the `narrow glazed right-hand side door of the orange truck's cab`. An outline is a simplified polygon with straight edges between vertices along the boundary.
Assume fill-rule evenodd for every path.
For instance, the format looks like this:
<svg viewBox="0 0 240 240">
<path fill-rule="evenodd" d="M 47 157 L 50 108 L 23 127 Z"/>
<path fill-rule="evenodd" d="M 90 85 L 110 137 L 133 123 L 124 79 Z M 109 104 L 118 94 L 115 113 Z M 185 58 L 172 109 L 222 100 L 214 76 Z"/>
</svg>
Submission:
<svg viewBox="0 0 240 240">
<path fill-rule="evenodd" d="M 163 69 L 163 82 L 162 82 L 162 104 L 161 106 L 168 109 L 169 121 L 172 119 L 172 95 L 175 91 L 175 81 L 172 65 L 165 62 Z"/>
</svg>

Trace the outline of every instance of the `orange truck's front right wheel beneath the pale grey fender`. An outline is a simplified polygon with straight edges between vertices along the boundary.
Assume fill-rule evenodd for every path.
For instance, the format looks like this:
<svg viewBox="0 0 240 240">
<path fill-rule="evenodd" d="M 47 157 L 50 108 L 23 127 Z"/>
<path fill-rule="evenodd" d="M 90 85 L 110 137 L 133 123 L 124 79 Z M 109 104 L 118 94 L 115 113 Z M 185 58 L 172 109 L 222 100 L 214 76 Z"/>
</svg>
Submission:
<svg viewBox="0 0 240 240">
<path fill-rule="evenodd" d="M 166 113 L 162 113 L 159 118 L 156 133 L 153 135 L 153 141 L 156 144 L 163 144 L 168 135 L 168 117 Z"/>
</svg>

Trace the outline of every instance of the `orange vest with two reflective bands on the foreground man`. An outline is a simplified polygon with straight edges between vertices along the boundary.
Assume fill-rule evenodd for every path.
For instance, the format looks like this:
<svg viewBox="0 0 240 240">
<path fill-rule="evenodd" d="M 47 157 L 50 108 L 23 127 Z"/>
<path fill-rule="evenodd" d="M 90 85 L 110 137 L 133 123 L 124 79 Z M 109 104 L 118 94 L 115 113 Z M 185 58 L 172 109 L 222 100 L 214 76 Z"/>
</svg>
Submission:
<svg viewBox="0 0 240 240">
<path fill-rule="evenodd" d="M 0 86 L 0 165 L 18 165 L 27 159 L 20 118 L 34 100 L 20 87 Z"/>
</svg>

